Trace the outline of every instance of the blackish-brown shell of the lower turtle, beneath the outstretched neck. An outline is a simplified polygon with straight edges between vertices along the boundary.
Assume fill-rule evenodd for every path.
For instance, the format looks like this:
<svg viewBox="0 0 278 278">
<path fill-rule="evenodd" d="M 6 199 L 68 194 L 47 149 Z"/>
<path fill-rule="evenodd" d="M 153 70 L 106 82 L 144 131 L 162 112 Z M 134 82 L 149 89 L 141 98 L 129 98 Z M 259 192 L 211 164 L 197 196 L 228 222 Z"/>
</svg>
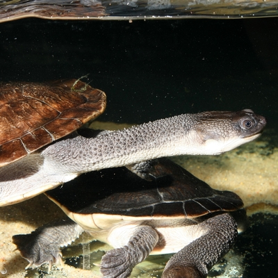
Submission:
<svg viewBox="0 0 278 278">
<path fill-rule="evenodd" d="M 45 193 L 73 213 L 133 217 L 196 218 L 218 211 L 237 211 L 243 201 L 230 191 L 214 190 L 167 158 L 154 161 L 146 181 L 126 167 L 82 174 Z M 108 218 L 109 219 L 109 218 Z"/>
</svg>

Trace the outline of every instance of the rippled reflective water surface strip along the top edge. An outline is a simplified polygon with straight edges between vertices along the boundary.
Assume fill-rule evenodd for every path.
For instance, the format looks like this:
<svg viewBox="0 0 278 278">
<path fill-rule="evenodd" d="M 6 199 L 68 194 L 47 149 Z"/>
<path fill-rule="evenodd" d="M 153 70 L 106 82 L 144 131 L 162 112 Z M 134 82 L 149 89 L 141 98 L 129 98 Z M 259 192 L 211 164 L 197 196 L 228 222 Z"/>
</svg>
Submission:
<svg viewBox="0 0 278 278">
<path fill-rule="evenodd" d="M 235 0 L 0 0 L 0 22 L 47 19 L 186 19 L 277 16 L 277 1 Z"/>
</svg>

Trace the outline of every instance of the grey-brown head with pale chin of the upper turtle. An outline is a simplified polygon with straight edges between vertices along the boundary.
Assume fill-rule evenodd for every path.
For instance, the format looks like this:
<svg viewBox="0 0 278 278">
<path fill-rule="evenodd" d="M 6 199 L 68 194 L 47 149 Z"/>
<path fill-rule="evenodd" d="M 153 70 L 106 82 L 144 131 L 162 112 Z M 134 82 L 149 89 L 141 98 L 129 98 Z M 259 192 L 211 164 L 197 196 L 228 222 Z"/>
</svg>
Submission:
<svg viewBox="0 0 278 278">
<path fill-rule="evenodd" d="M 258 138 L 266 124 L 265 117 L 250 109 L 237 112 L 199 113 L 196 136 L 203 154 L 221 154 Z"/>
</svg>

